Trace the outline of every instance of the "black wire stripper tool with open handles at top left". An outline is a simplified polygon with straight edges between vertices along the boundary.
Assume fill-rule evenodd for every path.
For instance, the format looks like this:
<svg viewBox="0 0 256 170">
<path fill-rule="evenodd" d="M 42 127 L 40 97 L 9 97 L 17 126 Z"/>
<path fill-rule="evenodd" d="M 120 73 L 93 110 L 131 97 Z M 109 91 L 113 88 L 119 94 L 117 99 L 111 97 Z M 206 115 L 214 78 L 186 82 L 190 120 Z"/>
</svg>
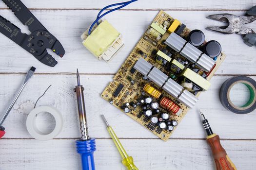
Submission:
<svg viewBox="0 0 256 170">
<path fill-rule="evenodd" d="M 62 57 L 65 53 L 59 40 L 52 35 L 20 0 L 2 0 L 23 25 L 27 25 L 30 35 L 21 33 L 20 28 L 0 16 L 0 33 L 31 53 L 41 63 L 54 67 L 58 62 L 47 52 L 51 49 Z"/>
</svg>

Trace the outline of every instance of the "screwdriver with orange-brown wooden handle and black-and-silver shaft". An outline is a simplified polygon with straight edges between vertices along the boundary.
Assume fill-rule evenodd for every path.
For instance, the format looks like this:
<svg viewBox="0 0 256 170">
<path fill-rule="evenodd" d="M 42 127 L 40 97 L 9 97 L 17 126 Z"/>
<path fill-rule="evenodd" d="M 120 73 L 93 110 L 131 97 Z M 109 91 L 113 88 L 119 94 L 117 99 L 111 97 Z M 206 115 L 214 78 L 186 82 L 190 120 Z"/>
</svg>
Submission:
<svg viewBox="0 0 256 170">
<path fill-rule="evenodd" d="M 225 149 L 221 146 L 219 136 L 213 133 L 208 120 L 205 119 L 200 109 L 199 112 L 204 129 L 207 133 L 207 143 L 210 145 L 213 153 L 216 170 L 236 170 L 234 163 L 230 160 Z"/>
</svg>

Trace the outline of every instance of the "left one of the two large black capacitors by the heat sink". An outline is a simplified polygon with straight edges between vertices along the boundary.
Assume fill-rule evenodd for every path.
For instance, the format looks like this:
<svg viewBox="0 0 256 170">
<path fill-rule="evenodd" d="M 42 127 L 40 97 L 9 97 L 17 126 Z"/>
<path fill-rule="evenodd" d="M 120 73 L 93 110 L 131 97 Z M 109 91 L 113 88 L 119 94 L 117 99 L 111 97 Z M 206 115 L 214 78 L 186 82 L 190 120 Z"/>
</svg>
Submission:
<svg viewBox="0 0 256 170">
<path fill-rule="evenodd" d="M 195 47 L 199 47 L 203 44 L 205 35 L 200 30 L 193 30 L 188 35 L 188 42 Z"/>
</svg>

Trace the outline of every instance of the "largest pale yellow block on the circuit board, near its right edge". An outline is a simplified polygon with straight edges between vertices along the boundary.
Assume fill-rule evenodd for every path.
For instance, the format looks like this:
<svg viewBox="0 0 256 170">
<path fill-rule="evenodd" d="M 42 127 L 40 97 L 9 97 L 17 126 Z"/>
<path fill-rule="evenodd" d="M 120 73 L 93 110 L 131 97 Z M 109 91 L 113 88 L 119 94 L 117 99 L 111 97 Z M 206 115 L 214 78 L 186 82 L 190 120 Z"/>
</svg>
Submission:
<svg viewBox="0 0 256 170">
<path fill-rule="evenodd" d="M 193 70 L 191 70 L 189 68 L 186 68 L 181 73 L 181 75 L 186 77 L 186 78 L 188 78 L 189 80 L 191 80 L 195 84 L 199 85 L 204 90 L 208 90 L 208 88 L 211 85 L 211 83 L 209 81 L 207 81 L 206 79 L 201 77 L 199 74 L 197 74 L 195 71 L 193 71 Z"/>
</svg>

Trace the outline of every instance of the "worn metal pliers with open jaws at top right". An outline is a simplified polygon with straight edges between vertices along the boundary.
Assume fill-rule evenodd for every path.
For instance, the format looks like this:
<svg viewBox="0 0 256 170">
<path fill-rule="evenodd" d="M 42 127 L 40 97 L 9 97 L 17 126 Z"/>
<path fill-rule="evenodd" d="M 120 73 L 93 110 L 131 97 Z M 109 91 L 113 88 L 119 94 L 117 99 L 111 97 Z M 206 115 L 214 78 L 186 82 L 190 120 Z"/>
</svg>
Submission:
<svg viewBox="0 0 256 170">
<path fill-rule="evenodd" d="M 210 15 L 207 18 L 227 23 L 227 26 L 213 26 L 207 27 L 207 30 L 216 31 L 222 34 L 240 34 L 243 35 L 244 43 L 248 46 L 256 46 L 256 33 L 247 28 L 245 24 L 254 22 L 256 20 L 256 6 L 247 11 L 245 16 L 236 16 L 232 14 L 216 14 Z"/>
</svg>

